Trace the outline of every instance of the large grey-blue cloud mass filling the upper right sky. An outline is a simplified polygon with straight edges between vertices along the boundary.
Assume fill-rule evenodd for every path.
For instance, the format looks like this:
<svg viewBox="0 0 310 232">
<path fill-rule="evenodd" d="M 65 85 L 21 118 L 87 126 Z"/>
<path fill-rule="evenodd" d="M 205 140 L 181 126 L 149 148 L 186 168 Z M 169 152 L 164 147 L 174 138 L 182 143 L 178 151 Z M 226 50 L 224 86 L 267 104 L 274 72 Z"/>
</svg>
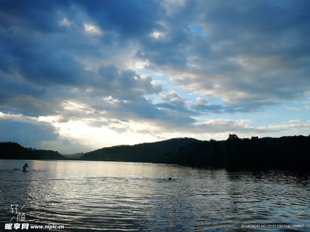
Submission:
<svg viewBox="0 0 310 232">
<path fill-rule="evenodd" d="M 310 88 L 308 6 L 185 1 L 162 20 L 165 39 L 141 39 L 136 57 L 226 104 L 299 99 Z"/>
</svg>

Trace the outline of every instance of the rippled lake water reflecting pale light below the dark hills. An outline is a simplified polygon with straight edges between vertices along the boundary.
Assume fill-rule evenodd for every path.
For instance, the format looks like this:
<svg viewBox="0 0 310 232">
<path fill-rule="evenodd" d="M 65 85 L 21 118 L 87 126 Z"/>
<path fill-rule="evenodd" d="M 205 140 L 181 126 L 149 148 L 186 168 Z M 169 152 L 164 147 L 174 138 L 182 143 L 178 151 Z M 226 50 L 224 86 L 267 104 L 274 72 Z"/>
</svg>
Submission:
<svg viewBox="0 0 310 232">
<path fill-rule="evenodd" d="M 309 231 L 309 173 L 0 160 L 0 179 L 4 231 L 14 230 L 5 230 L 9 223 L 64 226 L 51 231 Z M 25 222 L 16 222 L 19 213 Z M 247 223 L 304 226 L 242 227 Z"/>
</svg>

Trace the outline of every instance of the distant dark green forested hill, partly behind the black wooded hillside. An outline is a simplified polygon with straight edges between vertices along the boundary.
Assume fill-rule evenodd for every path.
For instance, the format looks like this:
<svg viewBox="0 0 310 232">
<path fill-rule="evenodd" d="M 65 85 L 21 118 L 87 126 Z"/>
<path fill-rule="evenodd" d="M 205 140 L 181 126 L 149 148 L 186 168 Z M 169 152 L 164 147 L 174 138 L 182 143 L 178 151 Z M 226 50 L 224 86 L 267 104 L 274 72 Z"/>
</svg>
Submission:
<svg viewBox="0 0 310 232">
<path fill-rule="evenodd" d="M 177 152 L 179 147 L 188 146 L 199 140 L 193 138 L 174 138 L 153 143 L 135 145 L 118 145 L 100 148 L 85 153 L 82 159 L 121 159 L 129 162 L 152 162 L 155 157 L 161 156 L 170 150 Z"/>
</svg>

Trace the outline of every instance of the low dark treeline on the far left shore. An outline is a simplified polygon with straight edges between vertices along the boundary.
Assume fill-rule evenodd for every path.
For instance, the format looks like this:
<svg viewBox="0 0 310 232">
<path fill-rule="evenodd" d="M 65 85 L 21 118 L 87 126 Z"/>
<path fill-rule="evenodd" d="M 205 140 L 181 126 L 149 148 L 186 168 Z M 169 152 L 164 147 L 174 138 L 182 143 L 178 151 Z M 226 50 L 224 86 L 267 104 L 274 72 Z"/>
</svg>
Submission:
<svg viewBox="0 0 310 232">
<path fill-rule="evenodd" d="M 24 148 L 18 143 L 0 143 L 0 159 L 37 160 L 41 157 L 64 158 L 65 156 L 61 155 L 57 151 L 38 150 L 36 148 Z"/>
</svg>

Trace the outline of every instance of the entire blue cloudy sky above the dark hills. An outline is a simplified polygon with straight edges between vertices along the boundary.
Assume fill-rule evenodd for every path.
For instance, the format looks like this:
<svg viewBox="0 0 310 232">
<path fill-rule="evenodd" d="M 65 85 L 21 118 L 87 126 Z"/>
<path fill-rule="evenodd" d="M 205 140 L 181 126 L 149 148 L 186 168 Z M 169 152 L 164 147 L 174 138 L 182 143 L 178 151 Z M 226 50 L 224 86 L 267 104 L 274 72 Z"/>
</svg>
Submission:
<svg viewBox="0 0 310 232">
<path fill-rule="evenodd" d="M 1 1 L 0 142 L 310 134 L 309 1 Z"/>
</svg>

